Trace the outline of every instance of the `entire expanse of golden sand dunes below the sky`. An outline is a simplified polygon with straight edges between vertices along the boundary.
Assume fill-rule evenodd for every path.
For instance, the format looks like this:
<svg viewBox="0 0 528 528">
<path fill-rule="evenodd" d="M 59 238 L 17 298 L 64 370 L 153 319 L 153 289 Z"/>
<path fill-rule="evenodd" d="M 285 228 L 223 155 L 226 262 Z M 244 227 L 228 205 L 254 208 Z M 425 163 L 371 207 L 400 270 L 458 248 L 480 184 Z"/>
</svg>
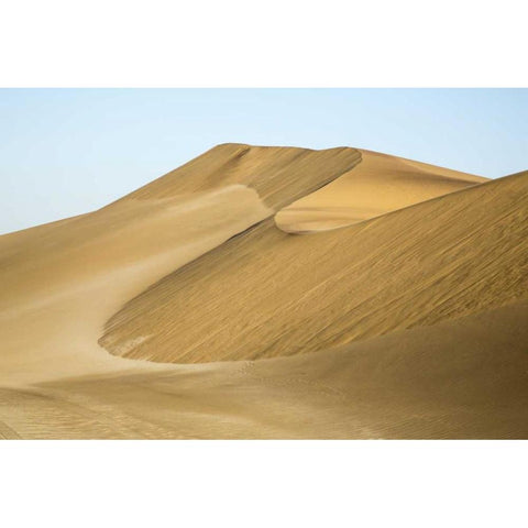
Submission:
<svg viewBox="0 0 528 528">
<path fill-rule="evenodd" d="M 528 438 L 528 172 L 221 144 L 0 271 L 0 438 Z"/>
</svg>

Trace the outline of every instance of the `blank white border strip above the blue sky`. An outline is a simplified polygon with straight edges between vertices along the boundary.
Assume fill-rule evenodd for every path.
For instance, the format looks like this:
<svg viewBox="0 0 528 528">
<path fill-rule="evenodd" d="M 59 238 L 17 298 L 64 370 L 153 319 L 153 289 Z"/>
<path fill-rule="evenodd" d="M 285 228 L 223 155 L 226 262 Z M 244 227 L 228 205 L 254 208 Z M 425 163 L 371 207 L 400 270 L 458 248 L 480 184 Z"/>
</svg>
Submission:
<svg viewBox="0 0 528 528">
<path fill-rule="evenodd" d="M 526 2 L 8 0 L 0 86 L 521 87 Z"/>
</svg>

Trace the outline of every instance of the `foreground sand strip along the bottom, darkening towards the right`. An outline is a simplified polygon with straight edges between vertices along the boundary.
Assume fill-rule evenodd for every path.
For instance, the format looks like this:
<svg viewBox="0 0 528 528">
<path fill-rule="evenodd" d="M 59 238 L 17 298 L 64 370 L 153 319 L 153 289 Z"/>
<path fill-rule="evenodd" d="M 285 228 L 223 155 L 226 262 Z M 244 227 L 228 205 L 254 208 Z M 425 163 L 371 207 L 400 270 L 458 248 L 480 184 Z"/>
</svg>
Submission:
<svg viewBox="0 0 528 528">
<path fill-rule="evenodd" d="M 527 320 L 525 301 L 314 354 L 0 388 L 0 437 L 528 438 Z"/>
</svg>

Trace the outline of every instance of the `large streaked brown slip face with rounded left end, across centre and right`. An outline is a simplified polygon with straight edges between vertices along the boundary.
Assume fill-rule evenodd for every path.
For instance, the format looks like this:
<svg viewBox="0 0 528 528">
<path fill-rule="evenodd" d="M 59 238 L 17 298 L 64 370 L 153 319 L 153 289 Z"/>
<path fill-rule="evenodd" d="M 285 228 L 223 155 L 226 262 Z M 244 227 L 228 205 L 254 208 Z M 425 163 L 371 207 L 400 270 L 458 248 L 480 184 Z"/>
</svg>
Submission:
<svg viewBox="0 0 528 528">
<path fill-rule="evenodd" d="M 504 306 L 528 296 L 527 204 L 525 172 L 326 233 L 268 219 L 129 301 L 100 343 L 156 362 L 254 360 Z"/>
</svg>

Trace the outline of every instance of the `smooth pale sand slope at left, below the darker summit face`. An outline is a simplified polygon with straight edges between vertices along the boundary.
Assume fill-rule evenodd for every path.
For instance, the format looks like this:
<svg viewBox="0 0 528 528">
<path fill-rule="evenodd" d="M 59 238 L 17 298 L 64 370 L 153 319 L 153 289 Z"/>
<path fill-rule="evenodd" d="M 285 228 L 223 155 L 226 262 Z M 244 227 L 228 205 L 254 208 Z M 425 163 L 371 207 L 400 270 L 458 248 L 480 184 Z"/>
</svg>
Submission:
<svg viewBox="0 0 528 528">
<path fill-rule="evenodd" d="M 97 344 L 105 321 L 153 282 L 268 218 L 254 189 L 130 200 L 0 239 L 0 385 L 123 369 Z"/>
</svg>

